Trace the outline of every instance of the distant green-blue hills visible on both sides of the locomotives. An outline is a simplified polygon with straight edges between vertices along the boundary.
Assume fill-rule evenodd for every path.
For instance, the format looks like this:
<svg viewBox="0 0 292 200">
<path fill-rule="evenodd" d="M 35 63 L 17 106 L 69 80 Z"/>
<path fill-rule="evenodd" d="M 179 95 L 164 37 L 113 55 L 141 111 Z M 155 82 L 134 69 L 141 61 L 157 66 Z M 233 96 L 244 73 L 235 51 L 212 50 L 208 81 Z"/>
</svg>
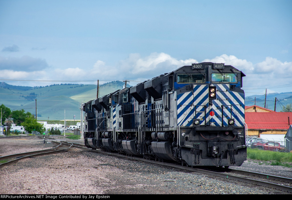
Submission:
<svg viewBox="0 0 292 200">
<path fill-rule="evenodd" d="M 112 81 L 99 86 L 99 97 L 123 89 L 122 81 Z M 128 87 L 131 87 L 127 84 Z M 49 86 L 29 87 L 13 86 L 5 82 L 0 84 L 0 105 L 13 110 L 24 109 L 37 116 L 39 121 L 80 119 L 80 104 L 96 99 L 97 85 L 93 84 L 53 84 Z M 265 106 L 265 95 L 252 95 L 245 97 L 245 106 Z M 292 93 L 270 93 L 267 94 L 266 108 L 281 111 L 283 106 L 292 103 Z M 36 99 L 36 101 L 35 101 Z"/>
</svg>

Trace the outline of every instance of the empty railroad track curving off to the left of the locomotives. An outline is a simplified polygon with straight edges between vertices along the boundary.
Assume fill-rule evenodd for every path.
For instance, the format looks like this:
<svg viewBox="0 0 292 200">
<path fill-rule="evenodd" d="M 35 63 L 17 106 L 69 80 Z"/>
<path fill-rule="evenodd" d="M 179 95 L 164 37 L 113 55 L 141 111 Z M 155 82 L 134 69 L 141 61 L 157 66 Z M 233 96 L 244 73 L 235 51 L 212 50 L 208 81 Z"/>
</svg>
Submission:
<svg viewBox="0 0 292 200">
<path fill-rule="evenodd" d="M 11 162 L 15 162 L 18 161 L 20 159 L 23 158 L 27 158 L 27 157 L 32 157 L 32 156 L 39 156 L 39 155 L 47 155 L 47 154 L 52 154 L 52 153 L 60 153 L 63 151 L 68 151 L 69 148 L 71 148 L 73 146 L 73 144 L 69 143 L 69 142 L 56 142 L 56 141 L 52 141 L 55 143 L 58 143 L 58 146 L 55 146 L 53 148 L 50 149 L 45 149 L 45 150 L 39 150 L 39 151 L 30 151 L 30 152 L 25 152 L 25 153 L 17 153 L 17 154 L 11 154 L 11 155 L 6 155 L 6 156 L 1 156 L 0 157 L 0 167 L 4 167 L 5 165 L 10 164 Z M 64 147 L 66 146 L 66 148 Z M 69 146 L 69 147 L 67 147 Z"/>
</svg>

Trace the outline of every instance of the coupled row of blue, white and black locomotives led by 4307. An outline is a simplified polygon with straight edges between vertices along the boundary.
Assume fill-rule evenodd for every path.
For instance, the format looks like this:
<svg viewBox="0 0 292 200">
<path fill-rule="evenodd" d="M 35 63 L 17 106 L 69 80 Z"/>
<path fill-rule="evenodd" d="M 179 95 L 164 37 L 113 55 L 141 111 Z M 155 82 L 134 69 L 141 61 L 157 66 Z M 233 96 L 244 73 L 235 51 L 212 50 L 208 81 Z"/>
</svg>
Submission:
<svg viewBox="0 0 292 200">
<path fill-rule="evenodd" d="M 85 145 L 189 166 L 240 166 L 244 76 L 224 63 L 194 63 L 89 101 Z"/>
</svg>

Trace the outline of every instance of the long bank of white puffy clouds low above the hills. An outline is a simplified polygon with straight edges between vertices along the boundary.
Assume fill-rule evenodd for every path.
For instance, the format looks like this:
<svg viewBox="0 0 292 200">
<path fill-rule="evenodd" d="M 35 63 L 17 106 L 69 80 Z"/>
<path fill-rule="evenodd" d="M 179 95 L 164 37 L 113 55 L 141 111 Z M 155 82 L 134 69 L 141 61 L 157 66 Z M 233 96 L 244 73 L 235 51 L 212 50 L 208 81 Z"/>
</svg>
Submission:
<svg viewBox="0 0 292 200">
<path fill-rule="evenodd" d="M 1 58 L 0 58 L 1 59 Z M 3 60 L 3 58 L 2 58 Z M 33 59 L 28 59 L 29 61 Z M 39 59 L 41 60 L 41 59 Z M 26 59 L 23 59 L 24 63 Z M 23 65 L 20 60 L 19 65 Z M 98 60 L 90 69 L 85 68 L 38 68 L 34 71 L 24 71 L 15 68 L 0 70 L 2 79 L 29 79 L 29 80 L 135 80 L 143 82 L 145 80 L 159 76 L 160 74 L 171 72 L 181 66 L 199 63 L 195 59 L 178 60 L 166 53 L 152 53 L 149 56 L 140 54 L 130 54 L 128 58 L 121 60 L 118 64 L 109 66 L 107 63 Z M 275 58 L 267 57 L 260 63 L 251 63 L 245 59 L 239 59 L 234 55 L 223 54 L 213 59 L 205 59 L 201 62 L 225 63 L 241 70 L 246 77 L 243 78 L 244 89 L 258 88 L 253 92 L 262 93 L 267 88 L 269 93 L 291 91 L 291 88 L 276 87 L 281 85 L 292 85 L 292 62 L 281 62 Z M 34 62 L 32 62 L 34 63 Z M 283 79 L 280 79 L 283 78 Z M 1 80 L 0 80 L 1 81 Z M 48 84 L 58 84 L 61 82 L 21 82 L 22 85 L 44 86 Z M 81 83 L 81 82 L 77 82 Z M 84 84 L 95 84 L 94 82 L 83 82 Z M 12 83 L 9 83 L 12 84 Z M 135 85 L 137 82 L 131 82 Z"/>
</svg>

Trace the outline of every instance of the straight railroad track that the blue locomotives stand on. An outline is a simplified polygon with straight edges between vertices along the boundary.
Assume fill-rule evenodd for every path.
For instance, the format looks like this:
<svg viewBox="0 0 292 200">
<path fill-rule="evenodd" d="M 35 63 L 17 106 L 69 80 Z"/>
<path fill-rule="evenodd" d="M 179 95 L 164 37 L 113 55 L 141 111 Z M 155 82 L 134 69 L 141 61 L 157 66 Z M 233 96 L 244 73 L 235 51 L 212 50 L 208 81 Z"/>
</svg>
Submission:
<svg viewBox="0 0 292 200">
<path fill-rule="evenodd" d="M 244 183 L 251 183 L 255 185 L 260 185 L 264 187 L 270 187 L 282 191 L 287 191 L 292 193 L 292 179 L 291 178 L 286 178 L 286 177 L 281 177 L 281 176 L 274 176 L 270 174 L 262 174 L 258 172 L 251 172 L 251 171 L 243 171 L 243 170 L 237 170 L 237 169 L 226 169 L 223 168 L 222 170 L 210 170 L 210 169 L 200 169 L 200 168 L 192 168 L 192 167 L 186 167 L 186 166 L 181 166 L 178 164 L 173 164 L 173 163 L 164 163 L 164 162 L 158 162 L 154 160 L 148 160 L 148 159 L 143 159 L 139 157 L 132 157 L 128 155 L 122 155 L 118 153 L 112 153 L 112 152 L 105 152 L 101 150 L 93 150 L 90 148 L 85 147 L 84 145 L 73 143 L 74 147 L 82 148 L 87 151 L 93 151 L 93 152 L 98 152 L 98 153 L 103 153 L 107 155 L 114 155 L 118 157 L 124 157 L 128 159 L 133 159 L 133 160 L 139 160 L 139 161 L 144 161 L 144 162 L 149 162 L 153 164 L 159 164 L 163 166 L 168 166 L 168 167 L 173 167 L 177 169 L 183 169 L 183 170 L 188 170 L 188 171 L 194 171 L 197 173 L 202 173 L 202 174 L 207 174 L 209 176 L 216 176 L 216 177 L 221 177 L 225 179 L 230 179 L 230 180 L 237 180 L 241 181 Z M 236 174 L 236 175 L 234 175 Z"/>
</svg>

